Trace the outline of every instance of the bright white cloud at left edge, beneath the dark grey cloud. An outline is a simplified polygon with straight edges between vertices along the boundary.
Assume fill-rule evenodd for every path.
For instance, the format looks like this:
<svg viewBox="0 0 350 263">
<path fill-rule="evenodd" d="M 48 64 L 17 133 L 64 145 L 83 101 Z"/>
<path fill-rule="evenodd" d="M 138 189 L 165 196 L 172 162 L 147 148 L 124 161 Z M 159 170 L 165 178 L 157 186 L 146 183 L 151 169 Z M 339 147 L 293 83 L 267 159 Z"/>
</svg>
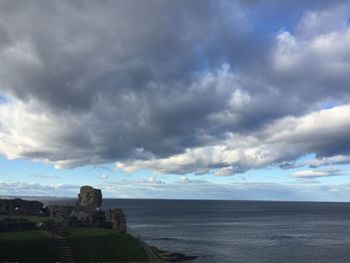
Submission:
<svg viewBox="0 0 350 263">
<path fill-rule="evenodd" d="M 0 152 L 9 159 L 38 160 L 56 168 L 103 162 L 92 153 L 88 129 L 81 131 L 91 121 L 89 115 L 68 115 L 56 115 L 38 103 L 25 104 L 15 98 L 0 104 Z M 77 149 L 76 143 L 84 145 Z"/>
</svg>

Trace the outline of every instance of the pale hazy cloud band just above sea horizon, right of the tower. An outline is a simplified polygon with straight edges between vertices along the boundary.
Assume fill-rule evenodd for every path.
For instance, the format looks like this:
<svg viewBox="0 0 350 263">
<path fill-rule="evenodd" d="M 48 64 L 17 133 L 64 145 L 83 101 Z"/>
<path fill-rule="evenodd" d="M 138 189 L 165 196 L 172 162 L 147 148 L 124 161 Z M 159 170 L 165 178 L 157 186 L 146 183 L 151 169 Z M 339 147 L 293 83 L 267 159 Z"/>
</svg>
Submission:
<svg viewBox="0 0 350 263">
<path fill-rule="evenodd" d="M 184 179 L 184 178 L 183 178 Z M 188 178 L 187 178 L 188 179 Z M 312 179 L 308 179 L 310 182 Z M 184 183 L 185 182 L 185 183 Z M 203 180 L 177 179 L 163 184 L 138 181 L 108 182 L 100 185 L 104 196 L 124 198 L 223 199 L 223 200 L 350 200 L 349 184 L 322 185 L 235 182 L 216 184 Z"/>
</svg>

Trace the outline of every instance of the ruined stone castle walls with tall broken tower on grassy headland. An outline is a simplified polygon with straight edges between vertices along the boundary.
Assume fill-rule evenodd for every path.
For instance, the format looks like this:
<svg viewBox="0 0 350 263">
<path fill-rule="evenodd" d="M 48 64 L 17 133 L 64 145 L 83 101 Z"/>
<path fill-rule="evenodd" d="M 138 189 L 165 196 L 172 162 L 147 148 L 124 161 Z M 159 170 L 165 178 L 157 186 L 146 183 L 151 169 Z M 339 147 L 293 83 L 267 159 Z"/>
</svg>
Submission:
<svg viewBox="0 0 350 263">
<path fill-rule="evenodd" d="M 82 186 L 75 206 L 51 205 L 44 207 L 38 201 L 16 199 L 0 199 L 0 215 L 50 216 L 63 217 L 67 226 L 94 226 L 113 228 L 120 233 L 127 232 L 126 216 L 122 209 L 107 211 L 101 209 L 102 192 L 91 186 Z M 33 227 L 25 220 L 6 218 L 0 221 L 1 229 L 27 229 Z"/>
</svg>

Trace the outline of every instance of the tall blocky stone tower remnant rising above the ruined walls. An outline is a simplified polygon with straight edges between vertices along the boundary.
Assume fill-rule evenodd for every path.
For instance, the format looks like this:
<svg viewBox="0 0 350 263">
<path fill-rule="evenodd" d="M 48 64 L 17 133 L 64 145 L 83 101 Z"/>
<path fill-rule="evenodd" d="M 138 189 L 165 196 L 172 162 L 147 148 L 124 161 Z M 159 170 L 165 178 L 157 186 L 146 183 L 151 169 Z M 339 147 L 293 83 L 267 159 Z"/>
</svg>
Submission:
<svg viewBox="0 0 350 263">
<path fill-rule="evenodd" d="M 77 206 L 88 207 L 93 210 L 100 208 L 102 205 L 102 192 L 91 186 L 82 186 L 78 194 Z"/>
</svg>

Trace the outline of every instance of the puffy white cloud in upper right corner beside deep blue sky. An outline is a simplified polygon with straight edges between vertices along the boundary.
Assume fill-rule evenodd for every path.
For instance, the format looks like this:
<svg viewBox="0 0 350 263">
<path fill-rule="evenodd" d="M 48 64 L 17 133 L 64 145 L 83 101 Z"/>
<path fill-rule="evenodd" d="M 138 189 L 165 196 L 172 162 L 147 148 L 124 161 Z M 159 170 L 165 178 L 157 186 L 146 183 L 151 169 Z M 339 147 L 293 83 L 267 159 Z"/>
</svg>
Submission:
<svg viewBox="0 0 350 263">
<path fill-rule="evenodd" d="M 271 74 L 282 80 L 282 85 L 291 81 L 295 91 L 305 95 L 315 96 L 311 89 L 319 94 L 330 94 L 332 88 L 344 93 L 350 73 L 349 11 L 348 5 L 309 11 L 294 33 L 282 30 L 276 37 Z"/>
</svg>

